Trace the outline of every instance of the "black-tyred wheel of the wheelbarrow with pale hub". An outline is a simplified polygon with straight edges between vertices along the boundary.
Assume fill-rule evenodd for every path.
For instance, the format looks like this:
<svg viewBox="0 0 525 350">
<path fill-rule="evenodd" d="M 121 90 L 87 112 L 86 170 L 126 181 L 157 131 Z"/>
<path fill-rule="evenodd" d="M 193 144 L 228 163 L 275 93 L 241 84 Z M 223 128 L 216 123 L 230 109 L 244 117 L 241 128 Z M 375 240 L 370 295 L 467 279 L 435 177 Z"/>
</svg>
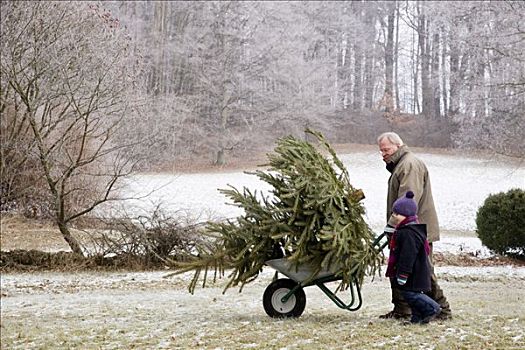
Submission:
<svg viewBox="0 0 525 350">
<path fill-rule="evenodd" d="M 306 295 L 303 288 L 298 288 L 286 302 L 282 298 L 290 290 L 297 286 L 297 283 L 288 278 L 280 278 L 270 283 L 263 295 L 264 311 L 270 317 L 299 317 L 306 306 Z"/>
</svg>

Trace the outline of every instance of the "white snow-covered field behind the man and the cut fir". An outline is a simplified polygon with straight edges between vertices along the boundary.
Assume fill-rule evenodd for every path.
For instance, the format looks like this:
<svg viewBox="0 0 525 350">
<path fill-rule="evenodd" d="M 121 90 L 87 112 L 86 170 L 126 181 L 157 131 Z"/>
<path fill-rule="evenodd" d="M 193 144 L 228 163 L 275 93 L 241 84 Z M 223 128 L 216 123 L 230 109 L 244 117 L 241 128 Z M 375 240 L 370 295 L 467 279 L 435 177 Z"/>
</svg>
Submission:
<svg viewBox="0 0 525 350">
<path fill-rule="evenodd" d="M 511 188 L 525 188 L 525 167 L 505 157 L 475 158 L 458 154 L 417 153 L 429 168 L 432 190 L 444 230 L 436 251 L 469 252 L 488 256 L 489 252 L 475 237 L 476 212 L 489 194 Z M 389 173 L 377 151 L 341 154 L 339 158 L 348 168 L 350 182 L 365 192 L 366 219 L 372 229 L 381 232 L 385 222 L 386 192 Z M 218 189 L 232 185 L 241 190 L 262 191 L 268 194 L 269 185 L 255 175 L 242 171 L 199 174 L 139 175 L 128 185 L 130 196 L 152 192 L 148 199 L 128 201 L 128 208 L 147 210 L 162 203 L 169 210 L 189 213 L 199 219 L 235 217 L 242 210 L 228 204 Z M 456 236 L 448 231 L 469 231 Z"/>
</svg>

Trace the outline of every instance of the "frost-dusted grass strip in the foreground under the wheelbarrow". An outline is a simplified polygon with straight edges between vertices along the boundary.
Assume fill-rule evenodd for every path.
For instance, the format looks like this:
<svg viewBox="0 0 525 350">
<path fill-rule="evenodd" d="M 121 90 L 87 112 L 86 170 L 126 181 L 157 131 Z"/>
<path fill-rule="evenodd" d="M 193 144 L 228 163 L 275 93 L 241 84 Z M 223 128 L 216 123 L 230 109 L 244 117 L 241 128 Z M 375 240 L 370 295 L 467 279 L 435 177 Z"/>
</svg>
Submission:
<svg viewBox="0 0 525 350">
<path fill-rule="evenodd" d="M 363 307 L 338 309 L 305 289 L 297 319 L 262 307 L 272 270 L 242 293 L 221 285 L 187 292 L 190 275 L 166 272 L 2 276 L 2 349 L 523 349 L 525 268 L 440 267 L 454 318 L 429 326 L 377 316 L 385 278 L 365 281 Z"/>
</svg>

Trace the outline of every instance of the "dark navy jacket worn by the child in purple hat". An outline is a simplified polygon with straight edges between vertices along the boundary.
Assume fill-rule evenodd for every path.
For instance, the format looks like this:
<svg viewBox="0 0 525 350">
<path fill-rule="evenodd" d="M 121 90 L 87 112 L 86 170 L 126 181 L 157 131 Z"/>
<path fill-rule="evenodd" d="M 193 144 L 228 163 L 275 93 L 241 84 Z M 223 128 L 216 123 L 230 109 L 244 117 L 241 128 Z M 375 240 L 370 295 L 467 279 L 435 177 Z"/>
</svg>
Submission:
<svg viewBox="0 0 525 350">
<path fill-rule="evenodd" d="M 394 254 L 394 271 L 390 283 L 395 288 L 414 292 L 430 291 L 430 266 L 425 250 L 427 231 L 425 224 L 408 224 L 397 228 L 392 236 L 395 240 L 390 254 Z M 388 272 L 388 270 L 387 270 Z M 408 275 L 405 285 L 397 284 L 399 274 Z"/>
</svg>

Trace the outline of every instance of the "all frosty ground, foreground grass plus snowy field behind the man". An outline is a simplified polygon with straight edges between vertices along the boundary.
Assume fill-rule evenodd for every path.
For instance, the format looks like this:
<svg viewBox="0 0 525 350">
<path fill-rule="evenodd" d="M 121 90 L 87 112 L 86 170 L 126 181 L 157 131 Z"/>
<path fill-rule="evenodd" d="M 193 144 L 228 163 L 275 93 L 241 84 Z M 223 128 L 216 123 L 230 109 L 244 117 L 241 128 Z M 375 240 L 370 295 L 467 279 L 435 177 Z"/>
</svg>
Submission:
<svg viewBox="0 0 525 350">
<path fill-rule="evenodd" d="M 508 158 L 419 155 L 430 170 L 443 231 L 435 251 L 471 253 L 479 261 L 491 256 L 474 232 L 477 208 L 490 193 L 524 188 L 523 165 Z M 352 184 L 367 196 L 367 221 L 379 231 L 388 173 L 377 151 L 370 148 L 341 159 Z M 148 200 L 128 201 L 126 208 L 163 202 L 201 220 L 234 217 L 240 210 L 227 205 L 217 191 L 227 184 L 268 191 L 242 171 L 143 174 L 128 183 L 127 194 L 155 191 Z M 61 244 L 53 250 L 66 249 Z M 197 287 L 194 295 L 187 291 L 191 273 L 169 278 L 170 271 L 3 273 L 1 348 L 525 349 L 525 267 L 485 265 L 490 264 L 437 265 L 454 318 L 427 326 L 377 317 L 391 308 L 389 284 L 381 276 L 365 281 L 358 311 L 338 309 L 320 289 L 308 287 L 303 315 L 280 320 L 268 317 L 262 306 L 273 277 L 270 268 L 242 293 L 231 288 L 222 294 L 223 278 Z"/>
</svg>

